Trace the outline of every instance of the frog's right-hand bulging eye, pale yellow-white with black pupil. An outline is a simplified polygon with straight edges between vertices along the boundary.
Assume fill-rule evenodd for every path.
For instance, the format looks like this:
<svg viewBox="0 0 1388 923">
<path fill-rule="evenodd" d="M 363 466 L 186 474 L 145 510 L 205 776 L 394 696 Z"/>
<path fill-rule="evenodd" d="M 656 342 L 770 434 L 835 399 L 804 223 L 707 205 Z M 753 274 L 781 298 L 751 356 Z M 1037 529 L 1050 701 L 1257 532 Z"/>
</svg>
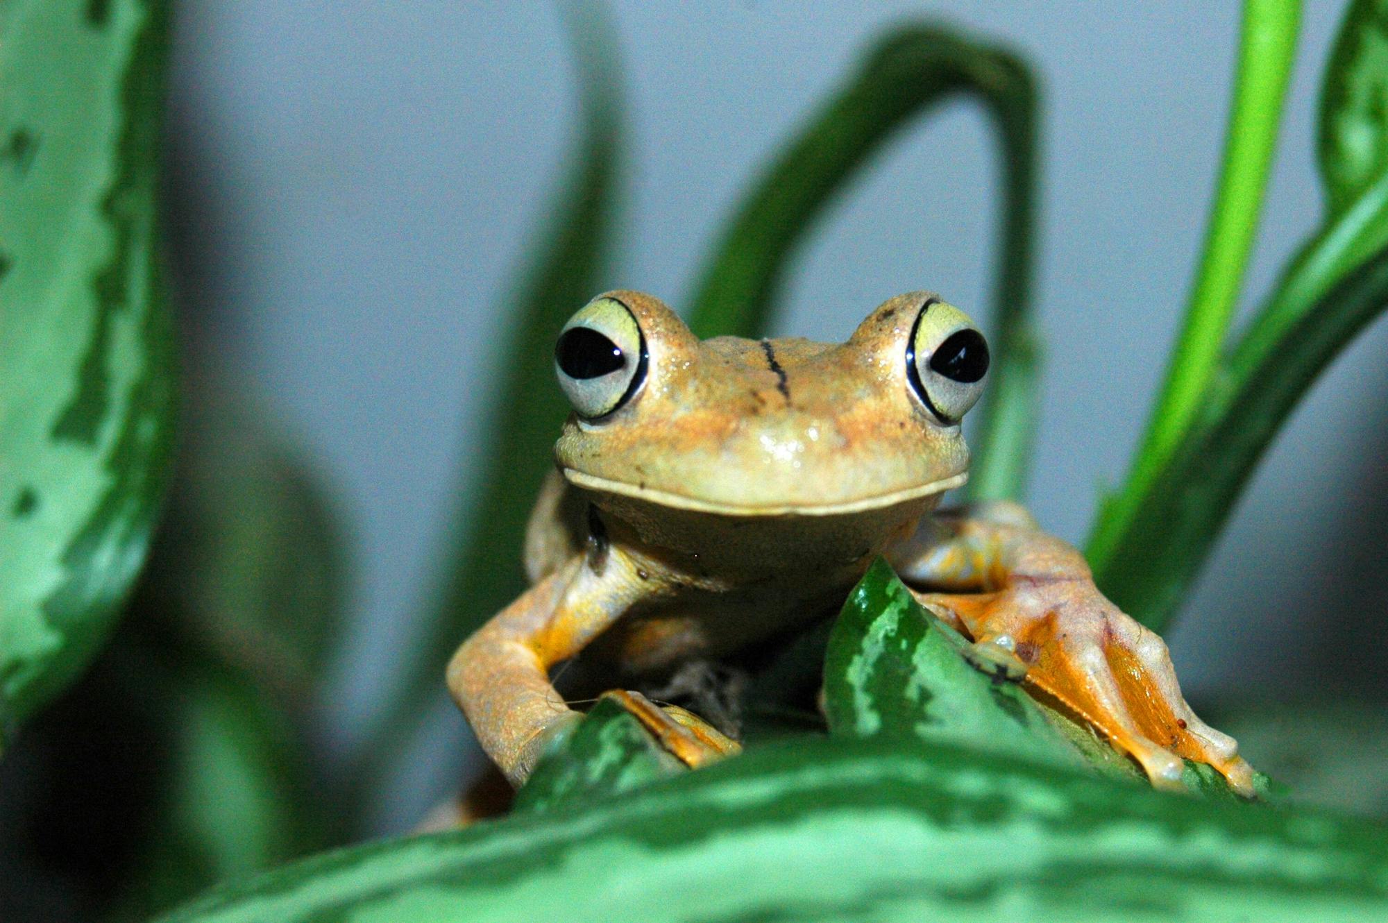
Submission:
<svg viewBox="0 0 1388 923">
<path fill-rule="evenodd" d="M 958 423 L 983 393 L 988 343 L 959 308 L 927 298 L 906 346 L 906 378 L 936 418 Z"/>
</svg>

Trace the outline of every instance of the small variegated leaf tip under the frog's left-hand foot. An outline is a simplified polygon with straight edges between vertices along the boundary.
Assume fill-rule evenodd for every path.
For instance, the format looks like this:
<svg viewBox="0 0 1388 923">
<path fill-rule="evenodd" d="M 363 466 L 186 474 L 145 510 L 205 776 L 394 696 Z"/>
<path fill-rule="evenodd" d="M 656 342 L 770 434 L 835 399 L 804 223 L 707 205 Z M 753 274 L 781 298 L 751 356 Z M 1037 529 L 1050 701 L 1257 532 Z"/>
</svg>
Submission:
<svg viewBox="0 0 1388 923">
<path fill-rule="evenodd" d="M 684 772 L 625 708 L 609 698 L 557 741 L 529 781 L 516 793 L 514 813 L 539 813 L 558 805 L 640 788 Z"/>
</svg>

